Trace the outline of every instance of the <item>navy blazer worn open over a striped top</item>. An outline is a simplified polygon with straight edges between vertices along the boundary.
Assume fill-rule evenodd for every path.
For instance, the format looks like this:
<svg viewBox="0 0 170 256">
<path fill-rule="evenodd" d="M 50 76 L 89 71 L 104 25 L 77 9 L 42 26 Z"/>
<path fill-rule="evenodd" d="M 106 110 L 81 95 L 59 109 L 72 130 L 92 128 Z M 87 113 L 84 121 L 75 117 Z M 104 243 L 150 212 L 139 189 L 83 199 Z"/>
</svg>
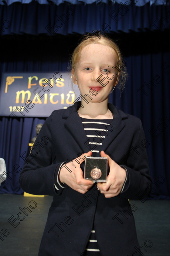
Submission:
<svg viewBox="0 0 170 256">
<path fill-rule="evenodd" d="M 103 256 L 131 256 L 139 247 L 133 213 L 138 200 L 151 190 L 147 143 L 141 120 L 108 104 L 114 113 L 100 148 L 117 164 L 126 167 L 127 181 L 123 192 L 105 198 L 94 185 L 81 194 L 70 187 L 54 187 L 55 172 L 64 161 L 88 152 L 87 136 L 77 113 L 80 102 L 67 109 L 55 110 L 46 119 L 34 147 L 25 161 L 19 182 L 30 194 L 53 195 L 48 219 L 39 248 L 39 256 L 80 256 L 86 247 L 93 222 L 100 253 Z M 99 135 L 98 135 L 99 136 Z M 92 147 L 91 147 L 92 148 Z M 100 152 L 97 156 L 100 156 Z M 53 164 L 52 164 L 53 163 Z M 68 171 L 68 175 L 70 172 Z M 147 184 L 148 183 L 148 184 Z M 88 252 L 87 252 L 88 254 Z"/>
</svg>

